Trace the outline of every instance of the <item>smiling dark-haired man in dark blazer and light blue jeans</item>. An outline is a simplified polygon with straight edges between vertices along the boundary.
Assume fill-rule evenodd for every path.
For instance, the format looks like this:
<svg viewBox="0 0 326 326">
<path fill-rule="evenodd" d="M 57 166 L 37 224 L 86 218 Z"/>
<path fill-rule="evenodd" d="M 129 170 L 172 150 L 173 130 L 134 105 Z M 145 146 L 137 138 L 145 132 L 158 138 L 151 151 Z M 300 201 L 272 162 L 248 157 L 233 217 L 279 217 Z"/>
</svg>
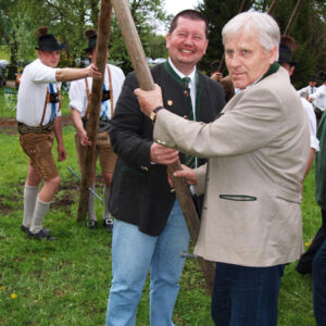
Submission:
<svg viewBox="0 0 326 326">
<path fill-rule="evenodd" d="M 195 10 L 179 12 L 166 36 L 168 59 L 151 70 L 164 88 L 164 105 L 183 120 L 212 122 L 225 104 L 221 85 L 196 65 L 208 47 L 208 22 Z M 153 141 L 153 121 L 139 109 L 129 74 L 110 126 L 118 155 L 113 173 L 110 210 L 115 217 L 112 237 L 112 285 L 106 326 L 135 325 L 137 306 L 150 269 L 150 324 L 172 326 L 179 277 L 189 233 L 178 200 L 167 180 L 166 165 L 179 152 Z M 199 166 L 196 156 L 181 162 Z"/>
</svg>

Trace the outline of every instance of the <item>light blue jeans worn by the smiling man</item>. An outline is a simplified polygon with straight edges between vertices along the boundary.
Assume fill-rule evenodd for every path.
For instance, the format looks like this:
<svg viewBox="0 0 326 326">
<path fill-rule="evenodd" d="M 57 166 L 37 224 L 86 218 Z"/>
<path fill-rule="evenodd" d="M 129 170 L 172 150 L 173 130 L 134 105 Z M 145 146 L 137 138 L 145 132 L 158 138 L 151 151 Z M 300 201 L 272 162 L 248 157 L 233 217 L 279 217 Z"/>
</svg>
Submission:
<svg viewBox="0 0 326 326">
<path fill-rule="evenodd" d="M 115 220 L 112 237 L 112 286 L 106 326 L 135 325 L 137 306 L 150 273 L 150 324 L 171 326 L 187 251 L 188 228 L 176 200 L 162 234 L 152 237 L 138 226 Z"/>
</svg>

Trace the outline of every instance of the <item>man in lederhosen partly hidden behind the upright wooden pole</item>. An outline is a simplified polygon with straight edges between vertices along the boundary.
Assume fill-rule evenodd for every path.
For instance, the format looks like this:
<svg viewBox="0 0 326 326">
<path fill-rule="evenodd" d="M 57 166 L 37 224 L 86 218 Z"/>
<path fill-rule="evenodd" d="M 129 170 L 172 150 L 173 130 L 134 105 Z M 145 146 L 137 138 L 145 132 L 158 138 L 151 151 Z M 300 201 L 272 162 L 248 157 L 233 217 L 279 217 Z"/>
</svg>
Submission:
<svg viewBox="0 0 326 326">
<path fill-rule="evenodd" d="M 88 48 L 85 49 L 90 62 L 93 64 L 96 59 L 97 35 L 95 29 L 86 32 L 88 38 Z M 109 212 L 109 195 L 112 174 L 116 161 L 116 154 L 113 152 L 109 136 L 109 123 L 113 116 L 116 100 L 120 96 L 125 75 L 123 71 L 112 64 L 106 64 L 104 70 L 104 84 L 102 90 L 101 112 L 99 120 L 99 131 L 96 139 L 96 155 L 99 156 L 102 174 L 104 177 L 104 209 L 103 209 L 103 226 L 108 230 L 112 230 L 112 220 Z M 72 118 L 77 129 L 75 141 L 78 154 L 79 170 L 82 171 L 83 154 L 90 141 L 86 134 L 87 118 L 90 109 L 90 90 L 92 78 L 87 77 L 73 82 L 70 88 L 70 109 L 72 110 Z M 96 179 L 96 161 L 91 172 L 91 187 L 95 187 Z M 97 228 L 97 216 L 95 211 L 95 196 L 89 192 L 88 200 L 88 227 Z"/>
</svg>

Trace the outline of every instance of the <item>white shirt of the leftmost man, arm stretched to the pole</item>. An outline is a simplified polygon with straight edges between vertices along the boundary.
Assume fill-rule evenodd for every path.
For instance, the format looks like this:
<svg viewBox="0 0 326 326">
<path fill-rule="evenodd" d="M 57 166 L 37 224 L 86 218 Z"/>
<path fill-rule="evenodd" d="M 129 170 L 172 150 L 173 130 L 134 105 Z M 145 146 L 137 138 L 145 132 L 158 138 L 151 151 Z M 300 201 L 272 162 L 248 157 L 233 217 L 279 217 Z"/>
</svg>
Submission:
<svg viewBox="0 0 326 326">
<path fill-rule="evenodd" d="M 54 91 L 61 88 L 61 83 L 57 83 L 55 71 L 58 68 L 50 67 L 36 59 L 25 66 L 22 76 L 18 96 L 17 96 L 17 122 L 24 123 L 27 126 L 38 126 L 41 122 L 47 87 L 49 83 L 53 84 Z M 59 103 L 55 103 L 57 116 L 61 115 L 59 111 Z M 42 125 L 50 121 L 52 104 L 47 103 L 46 114 Z"/>
</svg>

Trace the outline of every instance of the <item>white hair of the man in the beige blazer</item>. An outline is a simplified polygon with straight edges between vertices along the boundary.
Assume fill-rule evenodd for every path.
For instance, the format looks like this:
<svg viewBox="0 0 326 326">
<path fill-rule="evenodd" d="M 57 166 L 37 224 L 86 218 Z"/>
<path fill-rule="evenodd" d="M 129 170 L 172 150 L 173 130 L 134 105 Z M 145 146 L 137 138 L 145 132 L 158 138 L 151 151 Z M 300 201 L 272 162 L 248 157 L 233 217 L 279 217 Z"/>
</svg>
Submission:
<svg viewBox="0 0 326 326">
<path fill-rule="evenodd" d="M 248 11 L 233 17 L 222 29 L 223 45 L 228 37 L 237 35 L 240 30 L 256 33 L 259 42 L 267 51 L 275 46 L 278 48 L 279 27 L 267 13 Z"/>
</svg>

